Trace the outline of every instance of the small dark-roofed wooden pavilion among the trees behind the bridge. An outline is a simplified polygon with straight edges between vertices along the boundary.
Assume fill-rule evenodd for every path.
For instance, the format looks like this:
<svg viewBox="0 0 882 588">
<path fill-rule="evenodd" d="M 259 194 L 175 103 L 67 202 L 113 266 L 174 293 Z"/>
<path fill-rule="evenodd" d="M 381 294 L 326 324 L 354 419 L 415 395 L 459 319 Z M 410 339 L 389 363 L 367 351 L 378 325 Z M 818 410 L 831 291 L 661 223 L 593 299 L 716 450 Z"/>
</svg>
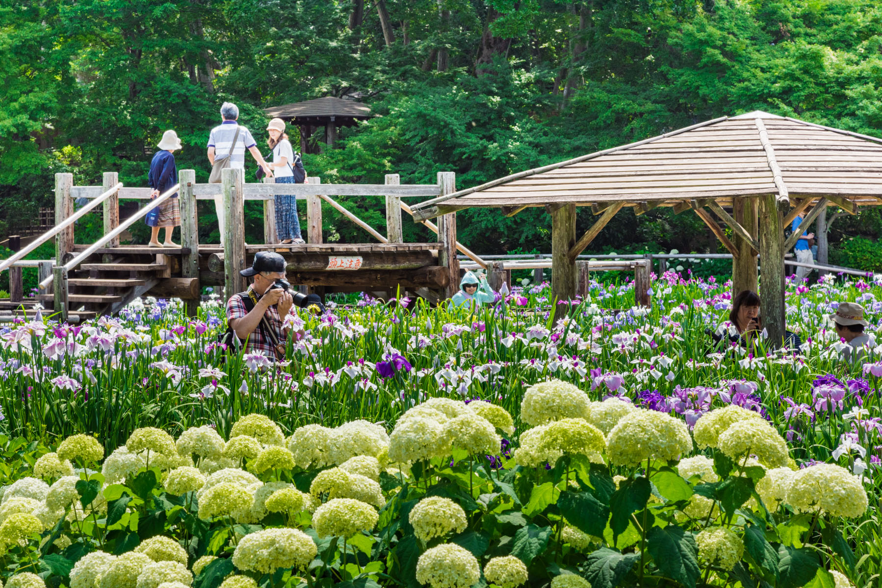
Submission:
<svg viewBox="0 0 882 588">
<path fill-rule="evenodd" d="M 367 104 L 333 96 L 264 108 L 264 111 L 267 115 L 281 118 L 300 128 L 300 153 L 318 153 L 310 145 L 310 137 L 319 128 L 325 128 L 325 145 L 331 148 L 337 140 L 337 130 L 340 127 L 350 127 L 356 121 L 367 120 L 372 116 Z"/>
</svg>

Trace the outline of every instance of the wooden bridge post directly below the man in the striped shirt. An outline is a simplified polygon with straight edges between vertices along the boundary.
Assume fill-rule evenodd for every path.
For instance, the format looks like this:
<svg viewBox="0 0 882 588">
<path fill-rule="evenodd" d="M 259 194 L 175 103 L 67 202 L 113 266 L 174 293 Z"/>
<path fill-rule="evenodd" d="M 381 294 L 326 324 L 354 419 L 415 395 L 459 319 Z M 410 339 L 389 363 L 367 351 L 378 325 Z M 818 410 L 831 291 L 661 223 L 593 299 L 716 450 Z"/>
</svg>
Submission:
<svg viewBox="0 0 882 588">
<path fill-rule="evenodd" d="M 245 212 L 243 169 L 228 167 L 221 171 L 224 201 L 224 300 L 244 292 L 248 281 L 239 272 L 245 267 Z"/>
</svg>

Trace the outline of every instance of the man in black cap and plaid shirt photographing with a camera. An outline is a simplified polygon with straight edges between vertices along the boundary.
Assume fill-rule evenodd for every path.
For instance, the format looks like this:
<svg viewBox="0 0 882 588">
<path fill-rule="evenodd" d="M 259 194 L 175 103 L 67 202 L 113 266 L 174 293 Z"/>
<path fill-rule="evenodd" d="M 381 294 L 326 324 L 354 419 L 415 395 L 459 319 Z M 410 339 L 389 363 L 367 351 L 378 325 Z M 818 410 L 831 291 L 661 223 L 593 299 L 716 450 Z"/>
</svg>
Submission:
<svg viewBox="0 0 882 588">
<path fill-rule="evenodd" d="M 295 296 L 306 307 L 311 302 L 303 294 L 289 291 L 285 281 L 285 258 L 272 251 L 259 251 L 250 268 L 239 272 L 253 277 L 246 292 L 233 294 L 227 301 L 228 333 L 243 341 L 245 353 L 262 353 L 274 359 L 284 359 L 285 341 L 290 334 L 284 327 L 295 304 Z M 320 304 L 320 302 L 319 302 Z M 233 339 L 229 337 L 229 339 Z M 236 341 L 238 343 L 238 341 Z"/>
</svg>

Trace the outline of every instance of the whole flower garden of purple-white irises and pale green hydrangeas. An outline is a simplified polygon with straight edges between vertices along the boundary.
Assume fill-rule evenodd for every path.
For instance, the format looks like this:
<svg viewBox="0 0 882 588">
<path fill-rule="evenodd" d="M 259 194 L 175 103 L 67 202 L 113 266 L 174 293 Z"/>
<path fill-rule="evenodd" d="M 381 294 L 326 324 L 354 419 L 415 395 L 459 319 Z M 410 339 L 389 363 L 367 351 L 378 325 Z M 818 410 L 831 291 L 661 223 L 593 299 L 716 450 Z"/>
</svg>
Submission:
<svg viewBox="0 0 882 588">
<path fill-rule="evenodd" d="M 7 325 L 0 580 L 878 584 L 882 362 L 842 361 L 827 315 L 875 333 L 882 276 L 789 285 L 804 345 L 774 351 L 710 346 L 714 279 L 668 272 L 652 309 L 594 283 L 557 323 L 548 293 L 290 316 L 281 364 L 227 354 L 216 301 Z"/>
</svg>

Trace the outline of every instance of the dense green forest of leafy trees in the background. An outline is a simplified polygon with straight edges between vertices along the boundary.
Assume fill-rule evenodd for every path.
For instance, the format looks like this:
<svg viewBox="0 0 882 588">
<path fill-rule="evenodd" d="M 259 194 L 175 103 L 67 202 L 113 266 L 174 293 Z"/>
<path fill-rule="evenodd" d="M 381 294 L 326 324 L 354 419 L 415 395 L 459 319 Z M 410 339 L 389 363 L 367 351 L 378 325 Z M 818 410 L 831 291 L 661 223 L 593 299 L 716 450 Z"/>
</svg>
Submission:
<svg viewBox="0 0 882 588">
<path fill-rule="evenodd" d="M 178 168 L 205 182 L 224 100 L 265 152 L 262 108 L 326 95 L 370 104 L 375 118 L 305 157 L 325 183 L 452 170 L 466 188 L 754 109 L 882 134 L 873 0 L 0 0 L 0 55 L 0 235 L 51 205 L 56 172 L 146 185 L 167 129 L 183 140 Z M 379 198 L 342 200 L 383 230 Z M 875 209 L 827 215 L 833 261 L 882 263 Z M 202 242 L 217 242 L 213 210 L 200 216 Z M 591 217 L 580 212 L 579 230 Z M 262 234 L 257 204 L 248 218 Z M 485 254 L 549 251 L 549 229 L 542 209 L 459 216 L 460 241 Z M 330 209 L 325 235 L 370 242 Z M 592 249 L 717 243 L 695 215 L 657 209 L 619 214 Z"/>
</svg>

